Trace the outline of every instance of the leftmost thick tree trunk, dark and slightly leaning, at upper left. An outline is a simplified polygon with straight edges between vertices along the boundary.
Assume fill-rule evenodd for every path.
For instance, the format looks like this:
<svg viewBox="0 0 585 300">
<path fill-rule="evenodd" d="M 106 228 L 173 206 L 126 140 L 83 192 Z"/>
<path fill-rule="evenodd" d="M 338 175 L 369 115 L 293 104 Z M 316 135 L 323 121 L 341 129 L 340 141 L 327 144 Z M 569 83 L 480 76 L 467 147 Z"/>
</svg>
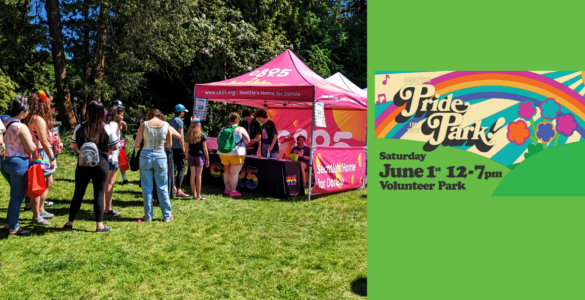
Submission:
<svg viewBox="0 0 585 300">
<path fill-rule="evenodd" d="M 47 20 L 49 23 L 49 34 L 51 36 L 51 52 L 53 54 L 53 68 L 55 70 L 55 81 L 57 86 L 57 104 L 59 115 L 63 126 L 71 127 L 77 125 L 75 114 L 69 100 L 69 89 L 65 88 L 67 80 L 67 65 L 65 61 L 65 50 L 63 48 L 63 35 L 61 33 L 61 13 L 59 11 L 59 0 L 47 0 L 45 5 Z"/>
</svg>

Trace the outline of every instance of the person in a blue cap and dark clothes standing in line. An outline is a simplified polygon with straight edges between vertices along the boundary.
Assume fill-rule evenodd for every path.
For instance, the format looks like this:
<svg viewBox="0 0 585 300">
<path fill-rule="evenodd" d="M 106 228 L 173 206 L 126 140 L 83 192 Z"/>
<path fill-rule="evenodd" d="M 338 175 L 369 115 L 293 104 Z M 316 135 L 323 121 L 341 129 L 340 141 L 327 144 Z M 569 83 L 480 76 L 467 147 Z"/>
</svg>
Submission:
<svg viewBox="0 0 585 300">
<path fill-rule="evenodd" d="M 177 197 L 190 197 L 188 194 L 185 194 L 181 187 L 183 186 L 183 178 L 185 177 L 185 134 L 183 133 L 183 120 L 182 117 L 185 116 L 185 113 L 189 111 L 185 109 L 185 106 L 182 104 L 177 104 L 175 106 L 175 117 L 169 121 L 169 125 L 173 127 L 176 131 L 179 132 L 181 135 L 180 140 L 173 140 L 173 145 L 171 147 L 173 151 L 173 163 L 175 165 L 175 170 L 177 171 L 177 175 L 175 178 L 175 187 Z M 174 175 L 174 174 L 173 174 Z"/>
</svg>

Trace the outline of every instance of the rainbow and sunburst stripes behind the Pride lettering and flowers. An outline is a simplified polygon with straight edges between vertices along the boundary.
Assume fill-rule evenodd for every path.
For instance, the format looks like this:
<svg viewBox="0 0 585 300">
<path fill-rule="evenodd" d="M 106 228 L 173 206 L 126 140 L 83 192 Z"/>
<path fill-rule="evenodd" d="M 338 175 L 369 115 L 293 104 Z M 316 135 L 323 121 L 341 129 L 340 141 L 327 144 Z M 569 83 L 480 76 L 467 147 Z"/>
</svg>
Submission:
<svg viewBox="0 0 585 300">
<path fill-rule="evenodd" d="M 441 95 L 441 99 L 449 94 L 453 99 L 460 99 L 471 105 L 471 109 L 464 115 L 464 124 L 470 124 L 482 120 L 482 126 L 493 124 L 499 118 L 505 118 L 506 123 L 502 128 L 517 120 L 521 103 L 530 101 L 539 107 L 543 101 L 549 98 L 561 106 L 561 113 L 571 113 L 575 116 L 577 128 L 567 137 L 562 136 L 558 145 L 585 140 L 585 72 L 583 71 L 454 71 L 454 72 L 420 72 L 421 74 L 435 74 L 430 82 L 435 87 L 435 93 Z M 379 91 L 385 87 L 384 80 L 390 75 L 388 84 L 395 77 L 416 76 L 416 72 L 376 72 L 376 97 Z M 422 76 L 422 75 L 421 75 Z M 426 76 L 426 75 L 425 75 Z M 405 83 L 394 83 L 405 85 Z M 405 123 L 397 123 L 396 116 L 404 110 L 404 106 L 397 107 L 392 102 L 394 95 L 386 94 L 386 103 L 375 105 L 375 136 L 387 139 L 408 139 L 424 141 L 422 135 L 414 136 L 409 130 L 414 126 L 420 126 L 426 117 L 412 117 Z M 473 113 L 471 113 L 473 111 Z M 542 121 L 540 109 L 537 109 L 533 121 Z M 553 121 L 553 123 L 555 123 Z M 556 123 L 555 123 L 556 125 Z M 428 138 L 427 138 L 428 140 Z M 456 146 L 465 151 L 477 153 L 491 158 L 505 166 L 519 163 L 524 160 L 530 140 L 522 145 L 509 142 L 506 138 L 497 140 L 498 147 L 486 153 L 477 151 L 475 147 Z M 552 143 L 548 145 L 552 147 Z"/>
</svg>

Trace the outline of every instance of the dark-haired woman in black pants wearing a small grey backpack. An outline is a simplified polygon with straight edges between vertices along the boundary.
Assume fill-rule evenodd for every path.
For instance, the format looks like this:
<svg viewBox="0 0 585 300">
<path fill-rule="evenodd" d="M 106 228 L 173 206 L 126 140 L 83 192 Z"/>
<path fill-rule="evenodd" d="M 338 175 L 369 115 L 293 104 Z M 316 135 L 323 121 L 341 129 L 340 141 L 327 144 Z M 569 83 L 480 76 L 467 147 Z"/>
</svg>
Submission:
<svg viewBox="0 0 585 300">
<path fill-rule="evenodd" d="M 83 144 L 93 142 L 99 152 L 99 161 L 95 167 L 84 167 L 77 162 L 75 169 L 75 192 L 69 207 L 69 222 L 63 228 L 73 230 L 73 221 L 81 208 L 81 200 L 91 180 L 93 183 L 93 211 L 95 213 L 96 232 L 106 232 L 112 227 L 104 226 L 104 192 L 108 179 L 108 154 L 118 150 L 118 138 L 109 126 L 104 124 L 104 106 L 96 101 L 87 105 L 86 121 L 75 127 L 71 138 L 71 149 L 81 149 Z"/>
</svg>

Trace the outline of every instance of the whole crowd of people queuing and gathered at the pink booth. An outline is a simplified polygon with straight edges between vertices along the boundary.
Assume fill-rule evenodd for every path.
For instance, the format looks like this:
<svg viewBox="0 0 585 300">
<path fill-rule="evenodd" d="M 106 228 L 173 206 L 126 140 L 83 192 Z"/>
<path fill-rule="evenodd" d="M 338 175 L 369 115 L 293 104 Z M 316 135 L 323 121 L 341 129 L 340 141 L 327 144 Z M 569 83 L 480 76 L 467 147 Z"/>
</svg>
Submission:
<svg viewBox="0 0 585 300">
<path fill-rule="evenodd" d="M 3 229 L 11 235 L 30 233 L 19 226 L 20 208 L 25 198 L 27 205 L 24 209 L 32 210 L 33 224 L 50 225 L 48 220 L 54 217 L 54 214 L 45 210 L 45 206 L 53 184 L 53 173 L 57 170 L 55 150 L 62 148 L 62 144 L 53 132 L 52 100 L 49 91 L 35 89 L 29 98 L 19 96 L 12 100 L 8 106 L 8 115 L 2 116 L 0 122 L 0 171 L 10 185 L 10 200 Z M 125 173 L 128 166 L 123 132 L 128 125 L 124 122 L 124 109 L 119 100 L 113 101 L 109 109 L 93 101 L 87 105 L 85 121 L 75 127 L 71 148 L 79 150 L 79 157 L 69 221 L 63 226 L 65 230 L 73 230 L 75 217 L 90 181 L 94 189 L 96 232 L 112 230 L 103 224 L 104 215 L 121 214 L 113 209 L 112 198 L 118 170 L 122 173 L 122 184 L 129 184 Z M 170 199 L 191 197 L 182 190 L 185 160 L 190 169 L 192 199 L 206 200 L 201 194 L 201 178 L 203 168 L 209 167 L 208 137 L 202 130 L 201 120 L 195 117 L 191 117 L 191 124 L 184 134 L 182 118 L 188 110 L 178 104 L 174 111 L 175 117 L 167 122 L 160 110 L 151 109 L 141 120 L 135 135 L 133 146 L 140 148 L 138 170 L 144 203 L 141 220 L 144 222 L 152 221 L 153 206 L 160 206 L 164 222 L 173 220 Z M 242 118 L 240 122 L 240 115 L 232 112 L 218 136 L 219 157 L 224 165 L 224 194 L 232 197 L 241 196 L 236 187 L 246 155 L 256 155 L 260 150 L 262 156 L 275 158 L 279 153 L 276 125 L 268 118 L 266 110 L 259 109 L 252 114 L 246 109 Z M 299 155 L 303 176 L 309 152 L 305 137 L 299 136 L 291 154 Z M 120 165 L 121 161 L 124 165 Z M 47 188 L 40 196 L 28 199 L 25 196 L 27 172 L 31 165 L 37 163 L 42 166 Z"/>
</svg>

